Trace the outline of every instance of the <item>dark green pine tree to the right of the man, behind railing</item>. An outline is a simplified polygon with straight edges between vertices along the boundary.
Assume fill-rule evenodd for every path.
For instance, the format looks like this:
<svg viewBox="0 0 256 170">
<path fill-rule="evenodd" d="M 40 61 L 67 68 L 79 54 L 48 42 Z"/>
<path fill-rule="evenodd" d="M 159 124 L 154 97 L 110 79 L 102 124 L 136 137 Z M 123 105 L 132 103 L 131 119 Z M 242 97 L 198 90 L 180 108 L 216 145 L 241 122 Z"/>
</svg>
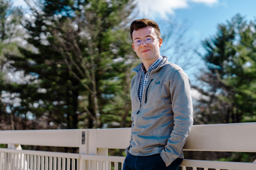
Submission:
<svg viewBox="0 0 256 170">
<path fill-rule="evenodd" d="M 204 88 L 197 120 L 204 123 L 256 121 L 255 22 L 237 14 L 218 26 L 218 33 L 204 41 L 208 70 L 199 78 Z M 200 110 L 199 110 L 200 109 Z"/>
</svg>

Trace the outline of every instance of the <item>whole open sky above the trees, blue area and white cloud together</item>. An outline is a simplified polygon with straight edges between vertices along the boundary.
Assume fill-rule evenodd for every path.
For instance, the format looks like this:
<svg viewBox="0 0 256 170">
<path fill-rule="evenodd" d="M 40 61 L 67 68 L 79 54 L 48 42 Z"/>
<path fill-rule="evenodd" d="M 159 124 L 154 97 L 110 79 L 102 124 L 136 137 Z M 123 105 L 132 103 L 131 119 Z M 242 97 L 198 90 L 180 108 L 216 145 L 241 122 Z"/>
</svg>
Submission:
<svg viewBox="0 0 256 170">
<path fill-rule="evenodd" d="M 194 43 L 200 44 L 205 38 L 217 32 L 217 25 L 230 20 L 235 14 L 246 16 L 247 20 L 254 20 L 256 16 L 255 0 L 136 0 L 140 15 L 138 18 L 149 18 L 156 22 L 171 15 L 178 21 L 187 20 L 191 27 L 187 38 L 193 38 Z M 23 0 L 14 0 L 14 5 L 26 6 Z M 204 50 L 199 49 L 201 53 Z M 204 66 L 201 62 L 201 67 Z M 200 67 L 199 66 L 199 67 Z M 197 69 L 187 70 L 190 79 L 195 80 Z"/>
</svg>

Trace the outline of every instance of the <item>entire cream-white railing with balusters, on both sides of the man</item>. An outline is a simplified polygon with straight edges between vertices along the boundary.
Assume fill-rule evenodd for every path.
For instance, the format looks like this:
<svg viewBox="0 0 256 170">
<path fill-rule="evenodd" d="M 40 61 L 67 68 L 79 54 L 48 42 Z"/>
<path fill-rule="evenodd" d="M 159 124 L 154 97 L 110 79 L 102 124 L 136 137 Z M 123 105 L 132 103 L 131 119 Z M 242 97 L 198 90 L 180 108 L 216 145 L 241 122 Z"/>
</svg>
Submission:
<svg viewBox="0 0 256 170">
<path fill-rule="evenodd" d="M 0 131 L 0 143 L 8 144 L 0 148 L 0 170 L 122 169 L 125 157 L 107 156 L 108 149 L 125 149 L 130 133 L 130 128 Z M 77 147 L 79 154 L 22 150 L 20 145 Z M 256 123 L 193 125 L 183 149 L 256 152 Z M 256 162 L 185 159 L 181 167 L 255 170 Z"/>
</svg>

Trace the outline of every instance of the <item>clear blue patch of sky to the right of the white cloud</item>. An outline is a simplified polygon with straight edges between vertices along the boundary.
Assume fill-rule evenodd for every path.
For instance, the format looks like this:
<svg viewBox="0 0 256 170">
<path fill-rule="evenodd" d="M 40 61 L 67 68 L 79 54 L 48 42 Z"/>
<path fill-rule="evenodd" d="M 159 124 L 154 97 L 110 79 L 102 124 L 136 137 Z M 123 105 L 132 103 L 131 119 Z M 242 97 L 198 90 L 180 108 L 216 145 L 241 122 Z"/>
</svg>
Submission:
<svg viewBox="0 0 256 170">
<path fill-rule="evenodd" d="M 217 32 L 217 24 L 225 23 L 235 14 L 246 16 L 247 20 L 254 20 L 256 1 L 254 0 L 226 0 L 207 6 L 199 3 L 189 3 L 188 8 L 175 10 L 174 17 L 188 19 L 191 22 L 190 34 L 195 39 L 204 39 Z"/>
</svg>

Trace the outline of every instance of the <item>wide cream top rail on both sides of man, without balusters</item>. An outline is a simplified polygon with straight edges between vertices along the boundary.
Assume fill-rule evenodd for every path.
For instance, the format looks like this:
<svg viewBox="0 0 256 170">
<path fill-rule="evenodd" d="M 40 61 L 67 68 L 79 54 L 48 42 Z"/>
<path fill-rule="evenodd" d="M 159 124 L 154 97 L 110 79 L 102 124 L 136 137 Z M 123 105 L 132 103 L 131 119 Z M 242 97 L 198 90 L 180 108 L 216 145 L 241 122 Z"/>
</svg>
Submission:
<svg viewBox="0 0 256 170">
<path fill-rule="evenodd" d="M 256 123 L 193 125 L 184 150 L 256 152 Z M 82 132 L 86 142 L 95 138 L 97 148 L 125 149 L 131 128 L 81 130 L 0 131 L 0 143 L 79 147 Z"/>
</svg>

